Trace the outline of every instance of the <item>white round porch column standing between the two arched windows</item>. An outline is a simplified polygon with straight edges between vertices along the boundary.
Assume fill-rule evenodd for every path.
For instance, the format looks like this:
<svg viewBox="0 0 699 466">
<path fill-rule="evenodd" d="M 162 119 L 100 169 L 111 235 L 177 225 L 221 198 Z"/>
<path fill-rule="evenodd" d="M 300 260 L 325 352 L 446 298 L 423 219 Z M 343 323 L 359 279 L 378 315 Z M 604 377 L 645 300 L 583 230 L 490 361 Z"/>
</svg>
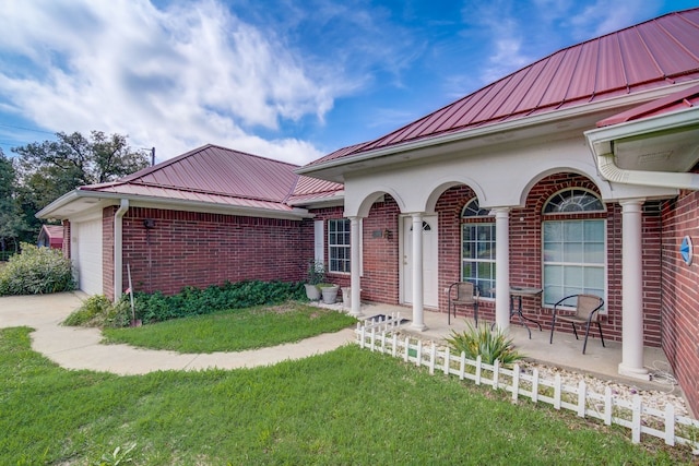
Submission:
<svg viewBox="0 0 699 466">
<path fill-rule="evenodd" d="M 510 208 L 495 213 L 495 323 L 502 331 L 510 327 Z"/>
</svg>

